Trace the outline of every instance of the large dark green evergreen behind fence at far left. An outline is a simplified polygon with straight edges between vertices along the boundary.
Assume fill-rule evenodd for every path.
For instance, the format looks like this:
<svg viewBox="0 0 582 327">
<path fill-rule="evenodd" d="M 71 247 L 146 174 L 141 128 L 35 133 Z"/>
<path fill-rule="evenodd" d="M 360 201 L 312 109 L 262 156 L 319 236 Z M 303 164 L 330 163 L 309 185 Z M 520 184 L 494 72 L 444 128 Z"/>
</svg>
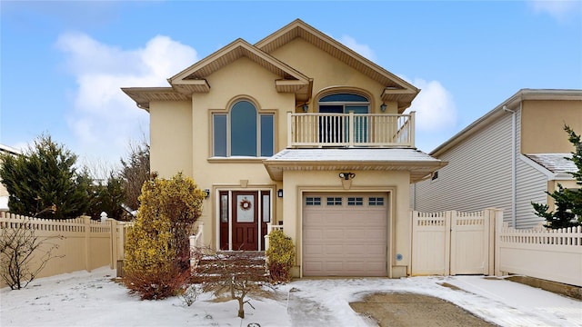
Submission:
<svg viewBox="0 0 582 327">
<path fill-rule="evenodd" d="M 76 172 L 76 158 L 45 134 L 25 154 L 2 155 L 0 177 L 10 194 L 10 212 L 51 219 L 85 213 L 90 178 Z"/>
</svg>

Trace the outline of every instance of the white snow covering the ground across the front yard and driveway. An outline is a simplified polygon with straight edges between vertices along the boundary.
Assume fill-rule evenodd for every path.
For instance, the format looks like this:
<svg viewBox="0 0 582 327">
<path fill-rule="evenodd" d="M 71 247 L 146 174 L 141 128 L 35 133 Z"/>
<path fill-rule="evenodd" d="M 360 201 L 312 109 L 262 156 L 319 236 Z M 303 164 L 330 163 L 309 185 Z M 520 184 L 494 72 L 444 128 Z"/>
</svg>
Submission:
<svg viewBox="0 0 582 327">
<path fill-rule="evenodd" d="M 0 291 L 0 325 L 7 326 L 373 326 L 349 302 L 372 292 L 437 296 L 500 326 L 582 326 L 582 302 L 551 292 L 483 276 L 403 279 L 305 279 L 253 298 L 246 318 L 238 303 L 203 294 L 187 306 L 179 298 L 140 301 L 113 280 L 115 271 L 74 272 L 32 282 L 24 290 Z M 448 283 L 463 291 L 442 286 Z M 268 292 L 267 292 L 268 293 Z"/>
</svg>

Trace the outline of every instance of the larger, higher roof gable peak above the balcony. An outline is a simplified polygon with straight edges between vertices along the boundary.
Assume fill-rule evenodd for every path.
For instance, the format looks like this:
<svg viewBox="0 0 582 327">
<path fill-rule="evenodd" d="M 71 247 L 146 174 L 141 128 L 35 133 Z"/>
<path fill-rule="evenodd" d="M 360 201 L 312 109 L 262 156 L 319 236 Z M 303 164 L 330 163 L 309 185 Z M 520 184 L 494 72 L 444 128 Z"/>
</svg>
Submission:
<svg viewBox="0 0 582 327">
<path fill-rule="evenodd" d="M 265 53 L 271 54 L 297 37 L 306 40 L 306 42 L 332 55 L 340 62 L 384 85 L 385 89 L 381 95 L 382 100 L 386 102 L 396 101 L 400 112 L 409 107 L 416 94 L 420 92 L 414 85 L 386 71 L 386 69 L 374 64 L 361 54 L 357 54 L 346 45 L 342 45 L 300 19 L 296 19 L 272 35 L 266 36 L 266 38 L 257 42 L 255 46 Z"/>
</svg>

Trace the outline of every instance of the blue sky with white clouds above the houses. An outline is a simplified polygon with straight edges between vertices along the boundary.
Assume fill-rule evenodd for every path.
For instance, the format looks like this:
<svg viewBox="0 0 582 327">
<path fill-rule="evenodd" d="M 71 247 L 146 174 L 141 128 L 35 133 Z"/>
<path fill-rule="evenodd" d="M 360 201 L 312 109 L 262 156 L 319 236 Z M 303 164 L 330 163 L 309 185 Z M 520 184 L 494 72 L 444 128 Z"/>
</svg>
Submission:
<svg viewBox="0 0 582 327">
<path fill-rule="evenodd" d="M 0 0 L 0 144 L 40 134 L 117 163 L 149 138 L 120 90 L 166 78 L 296 18 L 421 88 L 428 153 L 522 88 L 582 89 L 580 1 L 203 2 Z"/>
</svg>

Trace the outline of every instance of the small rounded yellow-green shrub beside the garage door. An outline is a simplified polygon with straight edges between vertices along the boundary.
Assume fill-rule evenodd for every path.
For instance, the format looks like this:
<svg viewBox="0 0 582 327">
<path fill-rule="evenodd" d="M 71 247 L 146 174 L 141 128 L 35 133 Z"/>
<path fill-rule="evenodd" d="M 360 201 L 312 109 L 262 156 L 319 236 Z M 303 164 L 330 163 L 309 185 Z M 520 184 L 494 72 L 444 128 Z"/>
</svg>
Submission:
<svg viewBox="0 0 582 327">
<path fill-rule="evenodd" d="M 291 281 L 291 268 L 295 265 L 295 244 L 281 230 L 269 233 L 266 250 L 267 268 L 274 283 Z"/>
</svg>

